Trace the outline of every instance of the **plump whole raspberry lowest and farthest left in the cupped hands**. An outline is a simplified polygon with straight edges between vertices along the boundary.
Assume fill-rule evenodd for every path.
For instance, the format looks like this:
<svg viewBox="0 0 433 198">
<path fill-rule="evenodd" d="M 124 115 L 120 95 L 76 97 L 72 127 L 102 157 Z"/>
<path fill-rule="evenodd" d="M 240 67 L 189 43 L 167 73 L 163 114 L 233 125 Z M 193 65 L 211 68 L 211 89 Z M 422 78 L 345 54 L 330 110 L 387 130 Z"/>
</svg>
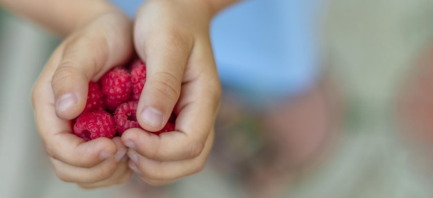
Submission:
<svg viewBox="0 0 433 198">
<path fill-rule="evenodd" d="M 109 112 L 96 110 L 77 117 L 73 130 L 75 135 L 86 141 L 98 137 L 113 138 L 116 135 L 116 123 Z"/>
</svg>

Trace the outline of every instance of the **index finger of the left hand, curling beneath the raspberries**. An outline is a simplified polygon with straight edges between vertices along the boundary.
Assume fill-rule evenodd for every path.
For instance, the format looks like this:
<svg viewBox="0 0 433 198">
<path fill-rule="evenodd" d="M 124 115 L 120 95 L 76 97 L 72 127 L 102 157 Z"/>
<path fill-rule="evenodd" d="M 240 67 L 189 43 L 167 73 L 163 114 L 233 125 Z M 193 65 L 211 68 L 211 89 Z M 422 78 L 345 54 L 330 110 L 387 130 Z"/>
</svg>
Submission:
<svg viewBox="0 0 433 198">
<path fill-rule="evenodd" d="M 60 119 L 55 113 L 53 90 L 50 77 L 55 70 L 55 62 L 59 61 L 57 50 L 48 66 L 42 72 L 33 90 L 32 101 L 35 109 L 35 121 L 48 155 L 66 164 L 78 167 L 92 167 L 117 151 L 116 143 L 100 138 L 85 142 L 73 135 L 71 121 Z M 53 63 L 54 62 L 54 63 Z"/>
</svg>

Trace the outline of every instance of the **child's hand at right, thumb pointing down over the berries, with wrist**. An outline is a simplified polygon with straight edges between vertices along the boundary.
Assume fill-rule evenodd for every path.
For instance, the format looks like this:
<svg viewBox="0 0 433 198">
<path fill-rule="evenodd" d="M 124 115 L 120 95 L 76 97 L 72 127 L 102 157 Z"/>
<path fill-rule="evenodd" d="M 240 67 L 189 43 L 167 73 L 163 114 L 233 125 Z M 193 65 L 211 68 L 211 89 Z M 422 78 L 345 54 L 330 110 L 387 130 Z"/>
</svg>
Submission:
<svg viewBox="0 0 433 198">
<path fill-rule="evenodd" d="M 147 63 L 138 122 L 163 128 L 172 110 L 176 131 L 159 136 L 127 130 L 129 167 L 149 184 L 162 185 L 199 172 L 212 147 L 221 85 L 209 36 L 212 14 L 204 1 L 150 0 L 139 10 L 134 43 Z"/>
</svg>

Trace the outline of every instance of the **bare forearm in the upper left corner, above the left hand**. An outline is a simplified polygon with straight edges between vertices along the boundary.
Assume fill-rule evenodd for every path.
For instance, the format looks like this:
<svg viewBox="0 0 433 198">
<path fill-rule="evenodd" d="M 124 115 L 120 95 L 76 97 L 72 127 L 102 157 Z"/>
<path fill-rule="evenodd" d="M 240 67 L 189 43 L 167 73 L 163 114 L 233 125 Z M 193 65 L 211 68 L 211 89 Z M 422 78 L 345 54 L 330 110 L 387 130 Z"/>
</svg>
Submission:
<svg viewBox="0 0 433 198">
<path fill-rule="evenodd" d="M 103 0 L 0 0 L 0 5 L 62 37 L 100 14 L 116 10 Z"/>
</svg>

